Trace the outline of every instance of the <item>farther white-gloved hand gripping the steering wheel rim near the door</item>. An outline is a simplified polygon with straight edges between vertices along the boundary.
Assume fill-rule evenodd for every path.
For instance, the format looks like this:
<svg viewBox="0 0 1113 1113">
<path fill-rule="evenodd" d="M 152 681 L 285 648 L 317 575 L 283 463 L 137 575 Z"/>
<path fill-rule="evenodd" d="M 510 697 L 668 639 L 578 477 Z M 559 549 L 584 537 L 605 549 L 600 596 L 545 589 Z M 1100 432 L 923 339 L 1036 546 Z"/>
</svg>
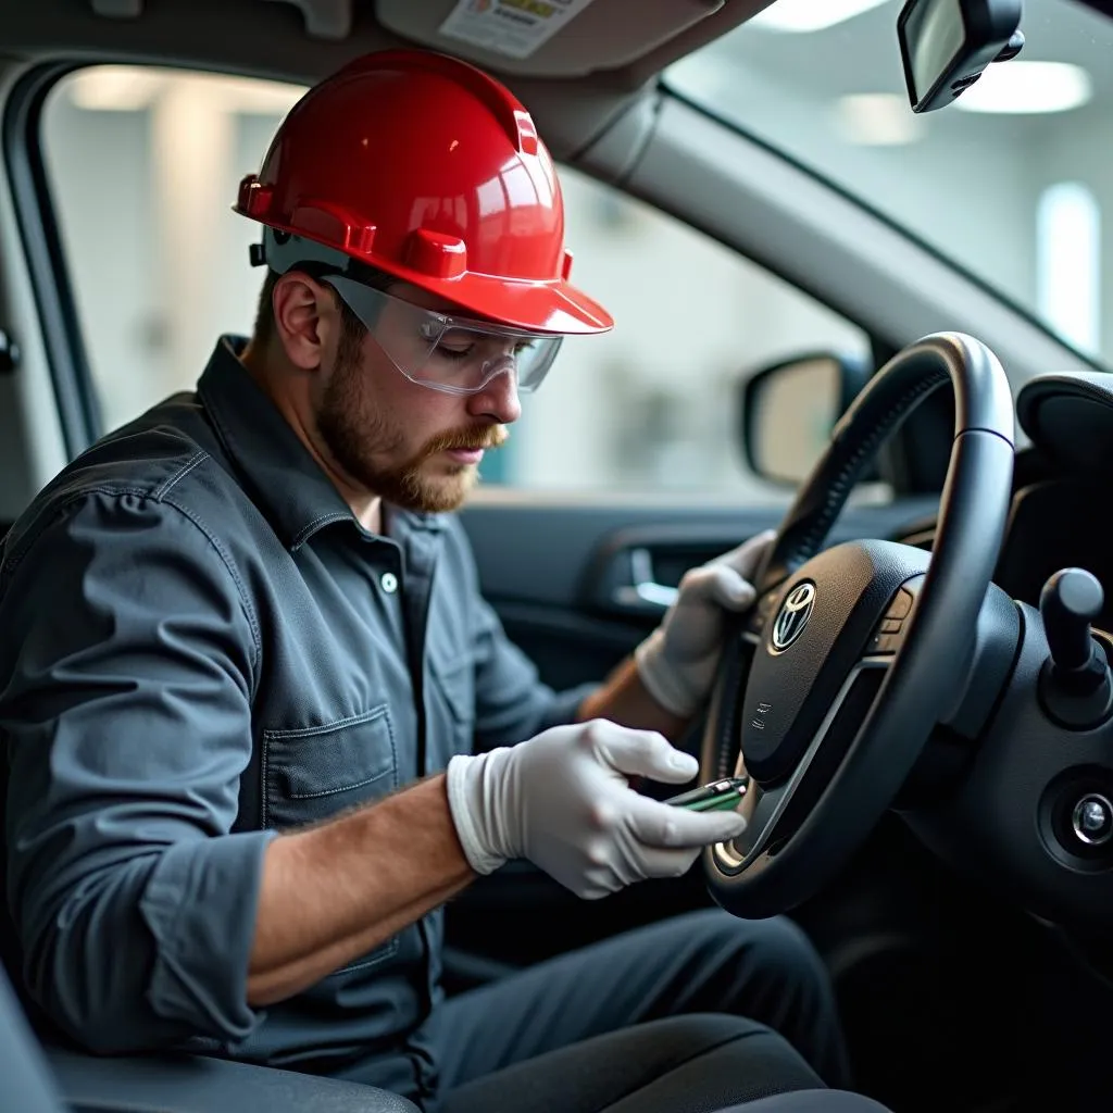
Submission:
<svg viewBox="0 0 1113 1113">
<path fill-rule="evenodd" d="M 752 605 L 750 579 L 776 536 L 766 530 L 686 572 L 661 624 L 634 650 L 641 682 L 667 711 L 687 718 L 707 699 L 722 652 L 723 610 Z"/>
</svg>

